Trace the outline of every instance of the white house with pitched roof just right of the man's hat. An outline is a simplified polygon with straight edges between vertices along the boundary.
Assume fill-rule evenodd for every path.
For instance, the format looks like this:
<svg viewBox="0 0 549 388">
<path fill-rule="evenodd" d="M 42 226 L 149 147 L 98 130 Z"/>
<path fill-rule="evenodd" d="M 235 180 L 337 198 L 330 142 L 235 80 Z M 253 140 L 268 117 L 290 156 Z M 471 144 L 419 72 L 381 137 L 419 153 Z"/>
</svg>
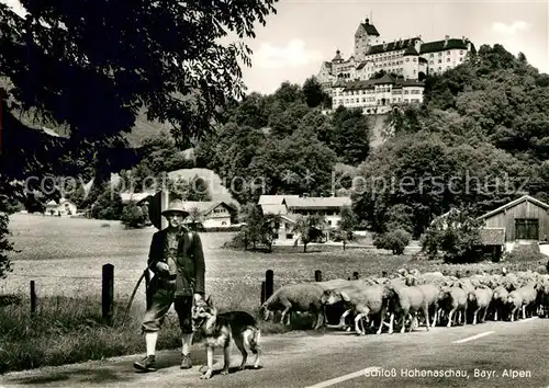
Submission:
<svg viewBox="0 0 549 388">
<path fill-rule="evenodd" d="M 183 203 L 186 209 L 191 215 L 186 218 L 184 224 L 202 224 L 202 227 L 208 228 L 228 228 L 234 222 L 238 209 L 225 202 L 192 202 Z"/>
</svg>

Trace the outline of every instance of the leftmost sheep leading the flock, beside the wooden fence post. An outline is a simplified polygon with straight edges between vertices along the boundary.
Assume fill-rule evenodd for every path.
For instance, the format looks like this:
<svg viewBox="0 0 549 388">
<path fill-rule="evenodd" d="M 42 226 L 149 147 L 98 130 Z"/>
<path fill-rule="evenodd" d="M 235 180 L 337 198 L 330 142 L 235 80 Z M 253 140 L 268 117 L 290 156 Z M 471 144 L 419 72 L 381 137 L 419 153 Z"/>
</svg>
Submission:
<svg viewBox="0 0 549 388">
<path fill-rule="evenodd" d="M 323 287 L 316 283 L 282 286 L 261 305 L 260 312 L 265 320 L 268 320 L 269 311 L 282 310 L 280 321 L 283 323 L 285 315 L 290 311 L 310 311 L 316 313 L 314 330 L 317 330 L 324 322 L 324 310 L 321 304 L 323 292 Z M 290 316 L 288 316 L 287 324 L 290 324 Z"/>
</svg>

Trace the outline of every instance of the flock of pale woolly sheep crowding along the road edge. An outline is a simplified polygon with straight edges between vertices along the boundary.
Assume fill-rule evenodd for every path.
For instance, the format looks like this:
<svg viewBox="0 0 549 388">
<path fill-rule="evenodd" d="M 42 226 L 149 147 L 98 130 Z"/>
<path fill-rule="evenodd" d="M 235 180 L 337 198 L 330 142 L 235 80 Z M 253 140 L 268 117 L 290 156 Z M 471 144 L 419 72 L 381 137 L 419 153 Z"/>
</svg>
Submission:
<svg viewBox="0 0 549 388">
<path fill-rule="evenodd" d="M 440 272 L 419 273 L 399 270 L 389 277 L 307 282 L 278 288 L 260 308 L 265 320 L 281 311 L 281 322 L 290 323 L 292 312 L 316 315 L 314 329 L 326 326 L 326 310 L 339 306 L 340 329 L 355 317 L 357 334 L 366 326 L 384 327 L 401 333 L 425 324 L 427 331 L 437 324 L 477 324 L 486 317 L 493 320 L 518 320 L 549 313 L 549 275 L 533 271 L 482 273 L 457 277 Z M 343 309 L 341 309 L 343 307 Z M 417 315 L 419 312 L 419 315 Z M 352 324 L 352 320 L 350 320 Z"/>
</svg>

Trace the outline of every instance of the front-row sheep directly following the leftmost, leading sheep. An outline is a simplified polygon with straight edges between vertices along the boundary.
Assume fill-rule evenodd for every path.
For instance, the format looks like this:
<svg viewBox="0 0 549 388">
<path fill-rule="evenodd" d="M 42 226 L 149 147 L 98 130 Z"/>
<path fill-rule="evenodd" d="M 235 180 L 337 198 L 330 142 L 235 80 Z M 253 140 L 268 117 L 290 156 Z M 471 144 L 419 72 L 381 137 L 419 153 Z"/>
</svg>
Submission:
<svg viewBox="0 0 549 388">
<path fill-rule="evenodd" d="M 326 305 L 333 305 L 340 300 L 348 304 L 352 310 L 357 311 L 358 315 L 355 318 L 355 331 L 359 335 L 365 335 L 366 330 L 362 326 L 360 328 L 360 320 L 362 318 L 368 318 L 370 315 L 381 315 L 381 323 L 378 330 L 378 334 L 381 334 L 381 329 L 383 327 L 383 317 L 385 316 L 388 308 L 388 299 L 391 296 L 391 292 L 385 286 L 367 286 L 365 288 L 348 287 L 341 289 L 330 289 L 324 292 L 322 301 Z"/>
</svg>

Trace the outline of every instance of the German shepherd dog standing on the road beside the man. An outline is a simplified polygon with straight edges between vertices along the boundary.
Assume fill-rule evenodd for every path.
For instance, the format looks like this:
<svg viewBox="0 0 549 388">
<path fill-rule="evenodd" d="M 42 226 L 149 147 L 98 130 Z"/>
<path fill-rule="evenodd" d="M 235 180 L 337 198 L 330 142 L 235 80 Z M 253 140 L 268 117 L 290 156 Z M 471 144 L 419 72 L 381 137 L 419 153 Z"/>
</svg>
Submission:
<svg viewBox="0 0 549 388">
<path fill-rule="evenodd" d="M 238 347 L 243 356 L 242 364 L 238 367 L 239 370 L 244 370 L 246 367 L 248 358 L 246 347 L 256 356 L 254 368 L 258 369 L 260 367 L 259 355 L 261 351 L 259 347 L 259 338 L 261 333 L 257 327 L 256 318 L 248 312 L 228 311 L 217 313 L 217 309 L 210 296 L 205 301 L 198 301 L 192 307 L 192 327 L 193 330 L 201 330 L 203 332 L 206 347 L 208 369 L 200 376 L 201 379 L 212 377 L 213 353 L 216 347 L 223 347 L 224 353 L 224 366 L 221 374 L 228 374 L 232 353 L 231 340 L 234 340 L 236 347 Z"/>
</svg>

